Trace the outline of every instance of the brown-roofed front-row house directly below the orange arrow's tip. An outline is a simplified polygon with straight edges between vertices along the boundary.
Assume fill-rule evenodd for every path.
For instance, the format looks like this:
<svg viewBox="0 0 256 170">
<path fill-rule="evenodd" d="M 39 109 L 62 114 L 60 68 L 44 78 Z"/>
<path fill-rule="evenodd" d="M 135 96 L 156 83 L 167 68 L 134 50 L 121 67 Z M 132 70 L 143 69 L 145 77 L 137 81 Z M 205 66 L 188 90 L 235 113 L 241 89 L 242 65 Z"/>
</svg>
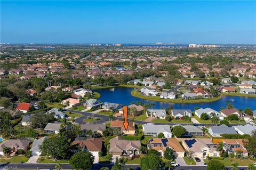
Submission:
<svg viewBox="0 0 256 170">
<path fill-rule="evenodd" d="M 110 139 L 109 153 L 113 157 L 133 157 L 140 154 L 140 141 L 128 141 L 116 136 Z"/>
</svg>

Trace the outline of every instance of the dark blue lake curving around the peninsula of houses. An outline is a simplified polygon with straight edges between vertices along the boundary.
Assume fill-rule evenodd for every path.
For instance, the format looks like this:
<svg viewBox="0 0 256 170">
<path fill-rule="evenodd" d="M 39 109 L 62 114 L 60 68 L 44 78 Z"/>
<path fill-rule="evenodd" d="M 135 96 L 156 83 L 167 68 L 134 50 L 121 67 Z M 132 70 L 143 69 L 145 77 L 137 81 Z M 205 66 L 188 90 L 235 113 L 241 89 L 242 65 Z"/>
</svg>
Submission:
<svg viewBox="0 0 256 170">
<path fill-rule="evenodd" d="M 121 103 L 129 105 L 133 101 L 141 101 L 142 103 L 155 103 L 154 108 L 161 109 L 162 107 L 167 108 L 170 105 L 174 106 L 174 109 L 191 109 L 194 110 L 195 107 L 199 108 L 212 108 L 219 111 L 221 107 L 226 107 L 226 101 L 229 101 L 233 104 L 234 107 L 238 109 L 251 108 L 256 110 L 256 98 L 247 98 L 241 96 L 222 96 L 220 100 L 214 102 L 205 102 L 205 103 L 166 103 L 166 102 L 157 102 L 149 101 L 144 99 L 139 99 L 131 95 L 131 91 L 134 88 L 128 87 L 115 87 L 114 91 L 110 91 L 110 88 L 100 88 L 95 90 L 100 93 L 99 100 L 102 102 L 112 102 L 112 103 Z"/>
</svg>

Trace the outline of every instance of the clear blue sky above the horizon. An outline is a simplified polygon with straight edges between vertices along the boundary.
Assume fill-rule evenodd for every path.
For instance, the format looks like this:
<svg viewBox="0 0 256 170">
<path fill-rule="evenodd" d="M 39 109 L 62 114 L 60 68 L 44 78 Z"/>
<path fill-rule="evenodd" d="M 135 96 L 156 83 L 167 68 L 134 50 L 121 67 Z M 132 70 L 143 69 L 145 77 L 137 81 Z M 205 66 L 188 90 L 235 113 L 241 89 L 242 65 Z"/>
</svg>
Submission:
<svg viewBox="0 0 256 170">
<path fill-rule="evenodd" d="M 1 1 L 2 43 L 256 43 L 256 1 Z"/>
</svg>

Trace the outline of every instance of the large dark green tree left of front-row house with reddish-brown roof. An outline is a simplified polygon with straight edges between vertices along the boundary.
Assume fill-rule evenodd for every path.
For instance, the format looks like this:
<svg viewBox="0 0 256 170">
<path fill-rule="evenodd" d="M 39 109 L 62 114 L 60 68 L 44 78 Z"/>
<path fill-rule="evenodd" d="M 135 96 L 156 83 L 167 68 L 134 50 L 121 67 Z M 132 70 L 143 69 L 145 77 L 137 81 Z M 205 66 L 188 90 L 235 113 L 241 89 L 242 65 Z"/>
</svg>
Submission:
<svg viewBox="0 0 256 170">
<path fill-rule="evenodd" d="M 69 144 L 66 137 L 51 137 L 45 139 L 39 147 L 41 152 L 46 156 L 56 159 L 64 159 L 68 156 Z"/>
</svg>

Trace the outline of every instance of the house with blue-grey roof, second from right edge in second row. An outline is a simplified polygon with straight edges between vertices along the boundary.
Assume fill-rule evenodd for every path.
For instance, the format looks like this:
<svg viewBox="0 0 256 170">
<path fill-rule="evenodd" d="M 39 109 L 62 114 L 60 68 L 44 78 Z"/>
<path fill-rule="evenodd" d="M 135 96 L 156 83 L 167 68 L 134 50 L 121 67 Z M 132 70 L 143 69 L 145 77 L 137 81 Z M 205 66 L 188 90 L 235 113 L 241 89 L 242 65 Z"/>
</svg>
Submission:
<svg viewBox="0 0 256 170">
<path fill-rule="evenodd" d="M 208 128 L 208 132 L 213 137 L 221 137 L 222 134 L 237 134 L 234 127 L 228 127 L 225 124 L 222 124 L 220 126 L 212 126 Z"/>
</svg>

